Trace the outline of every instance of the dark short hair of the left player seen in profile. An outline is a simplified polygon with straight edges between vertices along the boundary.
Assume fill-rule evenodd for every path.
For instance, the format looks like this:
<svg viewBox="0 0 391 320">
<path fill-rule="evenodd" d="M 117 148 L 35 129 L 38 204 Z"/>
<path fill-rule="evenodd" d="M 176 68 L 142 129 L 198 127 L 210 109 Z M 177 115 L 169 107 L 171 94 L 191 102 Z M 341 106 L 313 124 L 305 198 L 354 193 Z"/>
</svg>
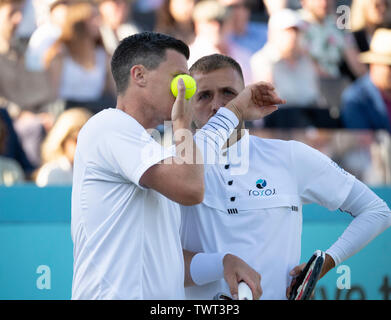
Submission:
<svg viewBox="0 0 391 320">
<path fill-rule="evenodd" d="M 111 59 L 111 72 L 118 94 L 129 85 L 129 71 L 137 64 L 154 70 L 166 59 L 166 50 L 173 49 L 189 59 L 189 47 L 181 40 L 157 32 L 137 33 L 123 39 Z"/>
</svg>

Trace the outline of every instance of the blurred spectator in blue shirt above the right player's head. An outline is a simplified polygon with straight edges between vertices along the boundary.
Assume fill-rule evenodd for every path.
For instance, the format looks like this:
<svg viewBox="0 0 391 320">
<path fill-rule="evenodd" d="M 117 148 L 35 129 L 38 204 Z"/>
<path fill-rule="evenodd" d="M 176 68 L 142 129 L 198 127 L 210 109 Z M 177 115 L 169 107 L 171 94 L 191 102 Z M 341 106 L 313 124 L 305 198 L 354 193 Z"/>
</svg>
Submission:
<svg viewBox="0 0 391 320">
<path fill-rule="evenodd" d="M 219 0 L 227 8 L 224 33 L 236 45 L 245 48 L 251 54 L 260 50 L 267 40 L 267 25 L 250 21 L 249 0 Z"/>
</svg>

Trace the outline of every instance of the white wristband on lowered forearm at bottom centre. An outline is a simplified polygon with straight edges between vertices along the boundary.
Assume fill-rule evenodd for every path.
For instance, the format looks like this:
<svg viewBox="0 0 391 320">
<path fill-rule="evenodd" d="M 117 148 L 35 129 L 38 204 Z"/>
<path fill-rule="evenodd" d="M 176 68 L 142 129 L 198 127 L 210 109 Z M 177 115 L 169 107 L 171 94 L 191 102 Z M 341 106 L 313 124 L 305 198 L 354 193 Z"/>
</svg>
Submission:
<svg viewBox="0 0 391 320">
<path fill-rule="evenodd" d="M 224 278 L 223 259 L 227 253 L 197 253 L 190 263 L 190 275 L 198 286 Z"/>
</svg>

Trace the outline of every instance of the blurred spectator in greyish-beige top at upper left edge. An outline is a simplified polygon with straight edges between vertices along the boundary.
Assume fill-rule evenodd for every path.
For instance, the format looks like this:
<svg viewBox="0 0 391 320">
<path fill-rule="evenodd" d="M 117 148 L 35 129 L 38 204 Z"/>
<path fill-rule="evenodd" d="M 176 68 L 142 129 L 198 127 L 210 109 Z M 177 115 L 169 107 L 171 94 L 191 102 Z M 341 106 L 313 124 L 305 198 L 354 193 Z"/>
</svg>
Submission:
<svg viewBox="0 0 391 320">
<path fill-rule="evenodd" d="M 22 20 L 23 0 L 0 0 L 0 98 L 12 113 L 15 130 L 33 166 L 39 165 L 44 123 L 51 115 L 45 105 L 54 99 L 49 77 L 25 67 L 24 52 L 12 41 Z"/>
</svg>

